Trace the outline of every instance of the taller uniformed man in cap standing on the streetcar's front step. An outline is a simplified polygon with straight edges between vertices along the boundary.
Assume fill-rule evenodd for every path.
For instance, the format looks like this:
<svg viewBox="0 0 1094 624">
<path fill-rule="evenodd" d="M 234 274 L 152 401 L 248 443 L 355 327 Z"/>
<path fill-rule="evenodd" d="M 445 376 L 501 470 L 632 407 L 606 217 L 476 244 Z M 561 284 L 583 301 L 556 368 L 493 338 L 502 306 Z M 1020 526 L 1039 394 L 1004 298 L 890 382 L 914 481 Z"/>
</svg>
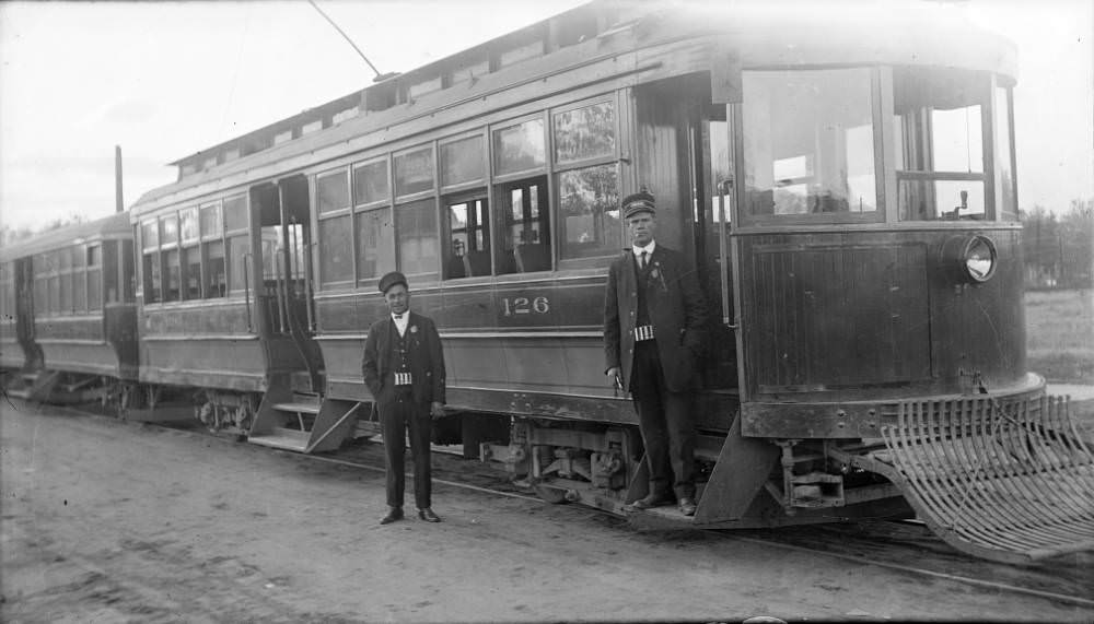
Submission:
<svg viewBox="0 0 1094 624">
<path fill-rule="evenodd" d="M 698 354 L 707 307 L 684 256 L 657 244 L 654 198 L 622 201 L 632 248 L 612 263 L 604 299 L 606 373 L 631 393 L 645 444 L 649 494 L 632 509 L 671 505 L 694 516 Z"/>
</svg>

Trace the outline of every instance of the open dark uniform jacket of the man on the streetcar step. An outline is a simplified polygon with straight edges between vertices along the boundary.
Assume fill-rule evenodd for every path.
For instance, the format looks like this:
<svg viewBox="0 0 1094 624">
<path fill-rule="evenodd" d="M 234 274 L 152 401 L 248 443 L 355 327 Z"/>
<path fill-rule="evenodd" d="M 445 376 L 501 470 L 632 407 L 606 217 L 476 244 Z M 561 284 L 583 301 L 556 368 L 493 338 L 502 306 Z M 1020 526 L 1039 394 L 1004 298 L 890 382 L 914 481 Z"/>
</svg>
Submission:
<svg viewBox="0 0 1094 624">
<path fill-rule="evenodd" d="M 670 391 L 696 388 L 698 355 L 703 343 L 707 306 L 699 280 L 684 256 L 660 243 L 653 249 L 647 273 L 645 301 L 655 328 L 657 355 Z M 635 254 L 628 249 L 612 263 L 604 296 L 604 364 L 622 369 L 624 389 L 630 390 L 635 357 L 635 326 L 638 319 L 639 272 Z"/>
</svg>

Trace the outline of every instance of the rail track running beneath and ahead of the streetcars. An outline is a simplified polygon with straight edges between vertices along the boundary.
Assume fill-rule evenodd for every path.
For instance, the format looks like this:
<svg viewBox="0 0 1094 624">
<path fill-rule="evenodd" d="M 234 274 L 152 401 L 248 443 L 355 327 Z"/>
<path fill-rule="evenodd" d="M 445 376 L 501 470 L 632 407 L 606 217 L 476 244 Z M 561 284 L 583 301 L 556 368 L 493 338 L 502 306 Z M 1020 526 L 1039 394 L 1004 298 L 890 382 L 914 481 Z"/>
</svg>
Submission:
<svg viewBox="0 0 1094 624">
<path fill-rule="evenodd" d="M 86 408 L 50 407 L 49 409 L 80 415 L 112 417 Z M 237 443 L 236 436 L 209 432 L 197 421 L 133 424 L 170 428 L 181 435 L 212 438 L 225 445 Z M 323 456 L 265 450 L 303 462 L 372 472 L 384 471 L 382 446 L 372 441 L 354 441 L 336 452 Z M 548 505 L 529 491 L 508 482 L 496 468 L 452 454 L 434 454 L 433 482 L 447 487 Z M 569 520 L 574 522 L 608 525 L 619 530 L 636 530 L 638 533 L 662 532 L 632 529 L 625 518 L 592 507 L 573 505 L 566 513 L 572 515 Z M 1023 594 L 1094 609 L 1094 599 L 1090 597 L 1090 588 L 1094 587 L 1094 555 L 1091 553 L 1074 553 L 1026 566 L 986 562 L 955 551 L 916 520 L 859 521 L 778 530 L 696 529 L 694 532 L 718 540 L 748 542 L 773 550 L 808 553 L 819 557 L 880 566 L 938 581 L 959 582 L 988 591 Z"/>
</svg>

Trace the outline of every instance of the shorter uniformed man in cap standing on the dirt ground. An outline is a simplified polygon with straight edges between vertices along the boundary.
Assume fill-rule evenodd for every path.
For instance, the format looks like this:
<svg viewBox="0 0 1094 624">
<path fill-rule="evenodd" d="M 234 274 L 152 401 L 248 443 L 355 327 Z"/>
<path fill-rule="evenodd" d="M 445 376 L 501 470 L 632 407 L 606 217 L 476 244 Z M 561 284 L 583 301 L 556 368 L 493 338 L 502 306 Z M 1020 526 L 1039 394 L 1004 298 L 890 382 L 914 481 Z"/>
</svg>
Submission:
<svg viewBox="0 0 1094 624">
<path fill-rule="evenodd" d="M 403 273 L 394 271 L 380 280 L 391 315 L 369 328 L 362 369 L 380 410 L 387 463 L 388 525 L 403 519 L 406 482 L 406 431 L 410 429 L 414 456 L 414 497 L 418 517 L 440 522 L 430 503 L 431 467 L 429 443 L 432 417 L 444 414 L 444 353 L 433 321 L 410 311 L 410 291 Z"/>
</svg>

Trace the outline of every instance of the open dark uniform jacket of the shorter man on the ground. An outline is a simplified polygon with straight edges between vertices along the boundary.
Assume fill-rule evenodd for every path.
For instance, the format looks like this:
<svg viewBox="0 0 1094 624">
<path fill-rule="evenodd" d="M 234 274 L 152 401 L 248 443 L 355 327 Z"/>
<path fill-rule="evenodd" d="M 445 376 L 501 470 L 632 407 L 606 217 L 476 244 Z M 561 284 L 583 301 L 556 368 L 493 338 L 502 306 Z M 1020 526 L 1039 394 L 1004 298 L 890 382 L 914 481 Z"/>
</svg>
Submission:
<svg viewBox="0 0 1094 624">
<path fill-rule="evenodd" d="M 406 339 L 410 349 L 410 376 L 415 401 L 444 403 L 444 352 L 433 320 L 415 313 L 407 321 Z M 372 323 L 364 341 L 361 364 L 364 382 L 377 402 L 391 399 L 395 372 L 389 370 L 394 338 L 398 329 L 391 315 Z"/>
</svg>

